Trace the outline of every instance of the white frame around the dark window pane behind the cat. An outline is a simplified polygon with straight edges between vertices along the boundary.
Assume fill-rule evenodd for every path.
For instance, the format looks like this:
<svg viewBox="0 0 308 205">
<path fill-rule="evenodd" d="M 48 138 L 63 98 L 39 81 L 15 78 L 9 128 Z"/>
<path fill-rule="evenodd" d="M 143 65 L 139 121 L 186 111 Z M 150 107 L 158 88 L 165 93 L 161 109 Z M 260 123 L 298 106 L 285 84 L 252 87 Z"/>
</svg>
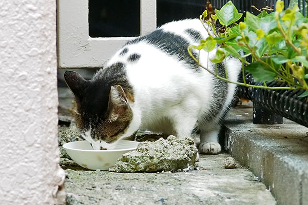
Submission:
<svg viewBox="0 0 308 205">
<path fill-rule="evenodd" d="M 95 68 L 134 37 L 89 36 L 88 0 L 57 0 L 59 68 Z M 124 19 L 125 20 L 125 19 Z M 156 29 L 156 0 L 140 0 L 140 34 Z"/>
</svg>

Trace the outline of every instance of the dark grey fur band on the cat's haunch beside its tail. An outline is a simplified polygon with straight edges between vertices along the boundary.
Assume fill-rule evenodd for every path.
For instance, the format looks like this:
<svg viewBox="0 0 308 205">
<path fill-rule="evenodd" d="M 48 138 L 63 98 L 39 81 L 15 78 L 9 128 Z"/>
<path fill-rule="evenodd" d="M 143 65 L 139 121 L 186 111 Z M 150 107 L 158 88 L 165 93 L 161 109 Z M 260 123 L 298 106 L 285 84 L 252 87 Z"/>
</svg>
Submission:
<svg viewBox="0 0 308 205">
<path fill-rule="evenodd" d="M 225 66 L 223 63 L 219 63 L 217 66 L 217 74 L 221 77 L 226 77 L 225 74 Z M 215 72 L 215 68 L 213 69 Z M 228 92 L 228 84 L 224 80 L 220 80 L 213 76 L 213 99 L 210 102 L 210 109 L 207 113 L 204 113 L 203 123 L 214 121 L 225 105 L 227 92 Z"/>
</svg>

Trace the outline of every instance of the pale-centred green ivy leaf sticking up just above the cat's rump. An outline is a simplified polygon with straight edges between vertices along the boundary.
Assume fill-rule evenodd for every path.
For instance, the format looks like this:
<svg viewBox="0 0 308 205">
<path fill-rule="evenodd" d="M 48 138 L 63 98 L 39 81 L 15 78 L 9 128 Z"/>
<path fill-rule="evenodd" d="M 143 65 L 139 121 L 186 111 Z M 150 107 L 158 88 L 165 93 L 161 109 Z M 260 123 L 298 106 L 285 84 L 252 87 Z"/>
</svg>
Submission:
<svg viewBox="0 0 308 205">
<path fill-rule="evenodd" d="M 234 4 L 229 1 L 220 10 L 215 9 L 219 22 L 223 26 L 229 26 L 235 23 L 242 17 L 242 13 L 239 13 Z"/>
</svg>

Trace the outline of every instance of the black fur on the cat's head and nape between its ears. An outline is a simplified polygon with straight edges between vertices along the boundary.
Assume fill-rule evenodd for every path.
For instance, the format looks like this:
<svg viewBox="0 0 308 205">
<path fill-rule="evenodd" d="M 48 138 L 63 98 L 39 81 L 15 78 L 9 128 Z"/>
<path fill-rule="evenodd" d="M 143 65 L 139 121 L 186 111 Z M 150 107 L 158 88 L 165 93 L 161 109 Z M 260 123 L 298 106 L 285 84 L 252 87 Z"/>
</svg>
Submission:
<svg viewBox="0 0 308 205">
<path fill-rule="evenodd" d="M 133 94 L 128 82 L 125 66 L 115 63 L 110 67 L 101 69 L 93 79 L 86 81 L 83 88 L 83 97 L 80 100 L 81 114 L 84 116 L 85 125 L 93 125 L 98 119 L 106 118 L 111 86 L 122 86 L 124 91 Z"/>
</svg>

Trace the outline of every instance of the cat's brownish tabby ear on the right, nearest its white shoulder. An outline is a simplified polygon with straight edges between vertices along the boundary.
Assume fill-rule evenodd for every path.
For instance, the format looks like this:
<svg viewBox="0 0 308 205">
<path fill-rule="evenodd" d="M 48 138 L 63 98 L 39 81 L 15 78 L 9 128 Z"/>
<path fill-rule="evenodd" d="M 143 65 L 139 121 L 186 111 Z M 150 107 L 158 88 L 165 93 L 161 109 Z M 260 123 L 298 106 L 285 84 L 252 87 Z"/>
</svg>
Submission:
<svg viewBox="0 0 308 205">
<path fill-rule="evenodd" d="M 122 86 L 111 86 L 108 103 L 109 121 L 117 120 L 127 108 L 127 96 Z"/>
</svg>

